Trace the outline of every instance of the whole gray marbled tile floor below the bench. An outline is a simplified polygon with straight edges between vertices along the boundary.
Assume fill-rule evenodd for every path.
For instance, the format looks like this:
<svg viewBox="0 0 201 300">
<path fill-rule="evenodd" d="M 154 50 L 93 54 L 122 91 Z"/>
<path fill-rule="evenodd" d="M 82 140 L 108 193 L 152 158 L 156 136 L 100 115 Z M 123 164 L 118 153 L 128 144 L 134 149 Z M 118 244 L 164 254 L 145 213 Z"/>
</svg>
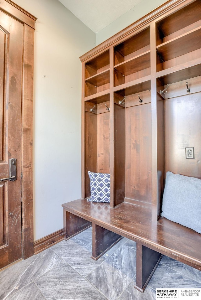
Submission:
<svg viewBox="0 0 201 300">
<path fill-rule="evenodd" d="M 126 238 L 98 261 L 90 256 L 91 228 L 0 272 L 0 300 L 152 300 L 155 288 L 201 287 L 201 271 L 164 256 L 141 294 Z"/>
</svg>

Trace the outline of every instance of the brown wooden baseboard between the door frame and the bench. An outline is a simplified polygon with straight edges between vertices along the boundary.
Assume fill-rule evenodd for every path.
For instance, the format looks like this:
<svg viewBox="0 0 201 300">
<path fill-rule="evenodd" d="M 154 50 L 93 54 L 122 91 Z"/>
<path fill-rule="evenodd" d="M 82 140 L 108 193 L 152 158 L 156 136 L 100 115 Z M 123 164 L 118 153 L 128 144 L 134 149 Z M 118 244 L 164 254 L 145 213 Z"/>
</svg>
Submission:
<svg viewBox="0 0 201 300">
<path fill-rule="evenodd" d="M 63 240 L 63 228 L 34 242 L 34 254 L 37 254 Z"/>
</svg>

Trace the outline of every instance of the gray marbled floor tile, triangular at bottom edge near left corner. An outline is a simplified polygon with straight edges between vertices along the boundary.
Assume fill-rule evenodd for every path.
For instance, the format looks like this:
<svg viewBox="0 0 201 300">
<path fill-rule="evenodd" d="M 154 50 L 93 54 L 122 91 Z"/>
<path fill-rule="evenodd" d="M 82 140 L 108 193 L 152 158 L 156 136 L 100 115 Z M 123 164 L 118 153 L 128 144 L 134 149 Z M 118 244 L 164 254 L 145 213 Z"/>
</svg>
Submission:
<svg viewBox="0 0 201 300">
<path fill-rule="evenodd" d="M 32 282 L 26 287 L 21 288 L 14 295 L 6 298 L 6 300 L 45 300 L 45 297 L 43 297 L 35 283 Z"/>
</svg>

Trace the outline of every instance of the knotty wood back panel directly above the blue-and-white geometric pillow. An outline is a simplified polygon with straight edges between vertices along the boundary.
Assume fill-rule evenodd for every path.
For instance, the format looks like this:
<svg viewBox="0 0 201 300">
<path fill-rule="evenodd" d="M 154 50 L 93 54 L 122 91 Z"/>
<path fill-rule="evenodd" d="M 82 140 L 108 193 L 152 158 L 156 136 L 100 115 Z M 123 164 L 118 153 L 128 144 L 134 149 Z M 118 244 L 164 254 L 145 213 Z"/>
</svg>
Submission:
<svg viewBox="0 0 201 300">
<path fill-rule="evenodd" d="M 105 107 L 106 109 L 106 107 Z M 110 173 L 110 113 L 97 115 L 97 172 Z"/>
</svg>

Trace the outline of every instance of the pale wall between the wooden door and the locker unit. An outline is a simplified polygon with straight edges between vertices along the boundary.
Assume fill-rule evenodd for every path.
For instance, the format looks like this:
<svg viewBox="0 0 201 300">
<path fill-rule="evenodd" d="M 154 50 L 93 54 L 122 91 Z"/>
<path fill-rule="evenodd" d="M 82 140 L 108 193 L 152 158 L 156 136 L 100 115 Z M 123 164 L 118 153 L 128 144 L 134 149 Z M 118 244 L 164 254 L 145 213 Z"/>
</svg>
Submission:
<svg viewBox="0 0 201 300">
<path fill-rule="evenodd" d="M 34 63 L 34 239 L 63 228 L 81 198 L 81 62 L 95 33 L 57 0 L 14 0 L 37 17 Z"/>
</svg>

